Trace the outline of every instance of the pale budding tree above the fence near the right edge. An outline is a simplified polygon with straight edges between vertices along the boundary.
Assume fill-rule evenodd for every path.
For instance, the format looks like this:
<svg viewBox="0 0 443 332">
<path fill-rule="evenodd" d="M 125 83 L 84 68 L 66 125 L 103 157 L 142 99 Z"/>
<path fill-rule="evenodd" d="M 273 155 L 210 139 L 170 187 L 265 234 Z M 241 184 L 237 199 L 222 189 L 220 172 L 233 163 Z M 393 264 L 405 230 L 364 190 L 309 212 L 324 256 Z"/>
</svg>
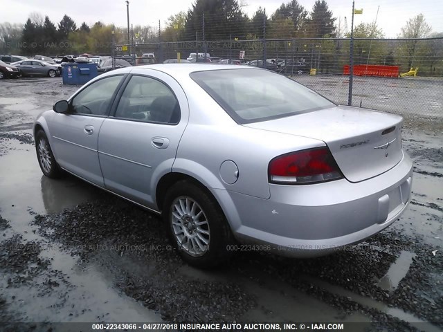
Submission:
<svg viewBox="0 0 443 332">
<path fill-rule="evenodd" d="M 423 14 L 419 14 L 412 19 L 408 19 L 406 25 L 401 28 L 401 38 L 425 38 L 431 33 L 431 26 L 428 26 Z M 408 57 L 408 68 L 415 64 L 415 57 L 417 53 L 422 53 L 421 47 L 423 43 L 419 44 L 417 39 L 409 40 L 404 45 L 404 53 Z M 417 66 L 417 64 L 415 64 Z"/>
</svg>

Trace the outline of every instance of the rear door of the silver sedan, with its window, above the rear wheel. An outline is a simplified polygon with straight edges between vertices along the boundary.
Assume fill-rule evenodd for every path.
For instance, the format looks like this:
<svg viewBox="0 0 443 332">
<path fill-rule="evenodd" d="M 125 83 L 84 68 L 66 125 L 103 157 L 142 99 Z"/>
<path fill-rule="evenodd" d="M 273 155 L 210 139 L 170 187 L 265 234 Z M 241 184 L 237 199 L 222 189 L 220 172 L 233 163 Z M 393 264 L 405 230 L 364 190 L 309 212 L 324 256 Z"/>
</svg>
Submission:
<svg viewBox="0 0 443 332">
<path fill-rule="evenodd" d="M 188 122 L 188 100 L 169 75 L 139 72 L 147 75 L 129 78 L 114 116 L 103 122 L 98 152 L 109 190 L 156 209 L 156 184 L 171 172 Z"/>
</svg>

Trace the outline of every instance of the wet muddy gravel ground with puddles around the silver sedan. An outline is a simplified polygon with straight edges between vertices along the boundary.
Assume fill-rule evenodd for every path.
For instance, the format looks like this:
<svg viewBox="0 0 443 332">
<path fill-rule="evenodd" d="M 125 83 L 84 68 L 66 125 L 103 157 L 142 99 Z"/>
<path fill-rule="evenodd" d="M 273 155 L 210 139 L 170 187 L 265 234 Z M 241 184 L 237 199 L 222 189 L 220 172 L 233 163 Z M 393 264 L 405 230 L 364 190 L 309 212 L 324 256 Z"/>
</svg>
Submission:
<svg viewBox="0 0 443 332">
<path fill-rule="evenodd" d="M 73 176 L 42 176 L 33 120 L 76 89 L 60 78 L 0 82 L 0 322 L 377 322 L 371 330 L 443 331 L 441 121 L 406 121 L 412 201 L 381 234 L 318 259 L 241 252 L 204 271 L 183 264 L 154 214 Z"/>
</svg>

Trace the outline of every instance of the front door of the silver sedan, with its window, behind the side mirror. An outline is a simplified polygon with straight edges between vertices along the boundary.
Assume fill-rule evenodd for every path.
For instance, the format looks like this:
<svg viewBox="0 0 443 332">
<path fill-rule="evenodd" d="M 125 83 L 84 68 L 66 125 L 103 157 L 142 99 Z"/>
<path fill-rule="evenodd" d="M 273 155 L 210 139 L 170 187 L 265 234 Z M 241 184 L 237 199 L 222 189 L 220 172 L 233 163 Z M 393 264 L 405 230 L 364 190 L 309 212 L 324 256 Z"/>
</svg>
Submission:
<svg viewBox="0 0 443 332">
<path fill-rule="evenodd" d="M 98 132 L 109 114 L 124 75 L 104 77 L 69 100 L 68 113 L 51 118 L 55 158 L 61 167 L 91 183 L 103 186 L 98 161 Z"/>
</svg>

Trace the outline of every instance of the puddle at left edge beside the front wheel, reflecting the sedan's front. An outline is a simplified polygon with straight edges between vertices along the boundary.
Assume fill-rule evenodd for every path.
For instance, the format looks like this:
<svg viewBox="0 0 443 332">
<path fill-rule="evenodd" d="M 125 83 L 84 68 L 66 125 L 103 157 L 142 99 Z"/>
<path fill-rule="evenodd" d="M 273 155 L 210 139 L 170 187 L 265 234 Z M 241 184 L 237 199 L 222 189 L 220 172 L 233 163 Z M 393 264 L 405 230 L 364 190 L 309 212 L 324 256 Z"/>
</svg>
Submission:
<svg viewBox="0 0 443 332">
<path fill-rule="evenodd" d="M 16 232 L 32 234 L 30 210 L 39 214 L 58 213 L 98 194 L 73 176 L 60 180 L 46 178 L 39 168 L 35 147 L 18 143 L 11 146 L 13 149 L 0 158 L 0 213 L 10 220 Z"/>
</svg>

